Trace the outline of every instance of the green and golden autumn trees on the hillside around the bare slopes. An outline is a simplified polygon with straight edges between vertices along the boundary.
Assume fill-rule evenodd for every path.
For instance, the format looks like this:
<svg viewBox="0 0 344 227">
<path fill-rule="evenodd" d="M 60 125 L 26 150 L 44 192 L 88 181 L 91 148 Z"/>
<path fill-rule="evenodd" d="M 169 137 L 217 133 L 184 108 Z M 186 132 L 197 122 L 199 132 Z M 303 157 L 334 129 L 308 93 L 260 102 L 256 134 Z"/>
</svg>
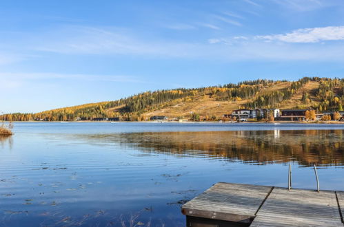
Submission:
<svg viewBox="0 0 344 227">
<path fill-rule="evenodd" d="M 113 118 L 121 120 L 144 120 L 142 114 L 163 107 L 175 105 L 179 102 L 190 102 L 199 97 L 208 96 L 218 101 L 247 100 L 243 105 L 246 108 L 273 108 L 279 107 L 283 100 L 289 100 L 299 89 L 310 81 L 316 81 L 320 85 L 315 91 L 316 98 L 320 100 L 318 105 L 310 102 L 310 94 L 303 93 L 301 101 L 316 111 L 342 111 L 344 100 L 344 79 L 304 77 L 293 81 L 289 87 L 274 89 L 267 92 L 271 86 L 278 87 L 287 80 L 245 80 L 237 84 L 226 84 L 201 88 L 163 89 L 146 91 L 128 98 L 108 102 L 88 103 L 74 107 L 52 109 L 39 113 L 14 113 L 3 114 L 0 120 L 7 121 L 66 121 L 76 118 Z M 230 111 L 230 110 L 229 110 Z M 194 115 L 192 118 L 198 118 Z"/>
</svg>

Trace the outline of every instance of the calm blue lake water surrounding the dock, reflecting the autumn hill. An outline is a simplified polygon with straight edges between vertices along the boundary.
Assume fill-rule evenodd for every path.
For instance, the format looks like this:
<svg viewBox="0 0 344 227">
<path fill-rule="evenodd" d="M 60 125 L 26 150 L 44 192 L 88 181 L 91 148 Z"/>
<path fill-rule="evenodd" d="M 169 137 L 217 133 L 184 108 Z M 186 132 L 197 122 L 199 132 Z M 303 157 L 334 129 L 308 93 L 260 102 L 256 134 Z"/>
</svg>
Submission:
<svg viewBox="0 0 344 227">
<path fill-rule="evenodd" d="M 0 138 L 0 226 L 185 226 L 216 182 L 344 191 L 344 125 L 20 122 Z"/>
</svg>

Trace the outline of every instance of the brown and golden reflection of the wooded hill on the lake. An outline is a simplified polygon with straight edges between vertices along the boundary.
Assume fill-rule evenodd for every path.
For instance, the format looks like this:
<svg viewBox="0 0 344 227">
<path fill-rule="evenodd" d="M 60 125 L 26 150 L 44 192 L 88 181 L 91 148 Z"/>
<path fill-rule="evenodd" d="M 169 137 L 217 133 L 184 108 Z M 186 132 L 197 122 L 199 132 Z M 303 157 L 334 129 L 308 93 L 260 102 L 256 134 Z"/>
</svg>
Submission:
<svg viewBox="0 0 344 227">
<path fill-rule="evenodd" d="M 255 164 L 344 164 L 343 130 L 199 131 L 123 133 L 123 144 L 143 151 L 203 155 Z"/>
</svg>

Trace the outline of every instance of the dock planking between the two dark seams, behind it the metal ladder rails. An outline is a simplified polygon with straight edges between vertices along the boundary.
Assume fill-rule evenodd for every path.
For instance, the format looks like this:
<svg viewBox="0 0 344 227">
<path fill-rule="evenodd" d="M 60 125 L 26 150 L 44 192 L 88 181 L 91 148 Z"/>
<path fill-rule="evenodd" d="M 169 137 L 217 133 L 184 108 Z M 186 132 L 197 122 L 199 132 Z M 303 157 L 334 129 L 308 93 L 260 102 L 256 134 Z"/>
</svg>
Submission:
<svg viewBox="0 0 344 227">
<path fill-rule="evenodd" d="M 250 226 L 341 226 L 334 191 L 274 188 Z"/>
</svg>

